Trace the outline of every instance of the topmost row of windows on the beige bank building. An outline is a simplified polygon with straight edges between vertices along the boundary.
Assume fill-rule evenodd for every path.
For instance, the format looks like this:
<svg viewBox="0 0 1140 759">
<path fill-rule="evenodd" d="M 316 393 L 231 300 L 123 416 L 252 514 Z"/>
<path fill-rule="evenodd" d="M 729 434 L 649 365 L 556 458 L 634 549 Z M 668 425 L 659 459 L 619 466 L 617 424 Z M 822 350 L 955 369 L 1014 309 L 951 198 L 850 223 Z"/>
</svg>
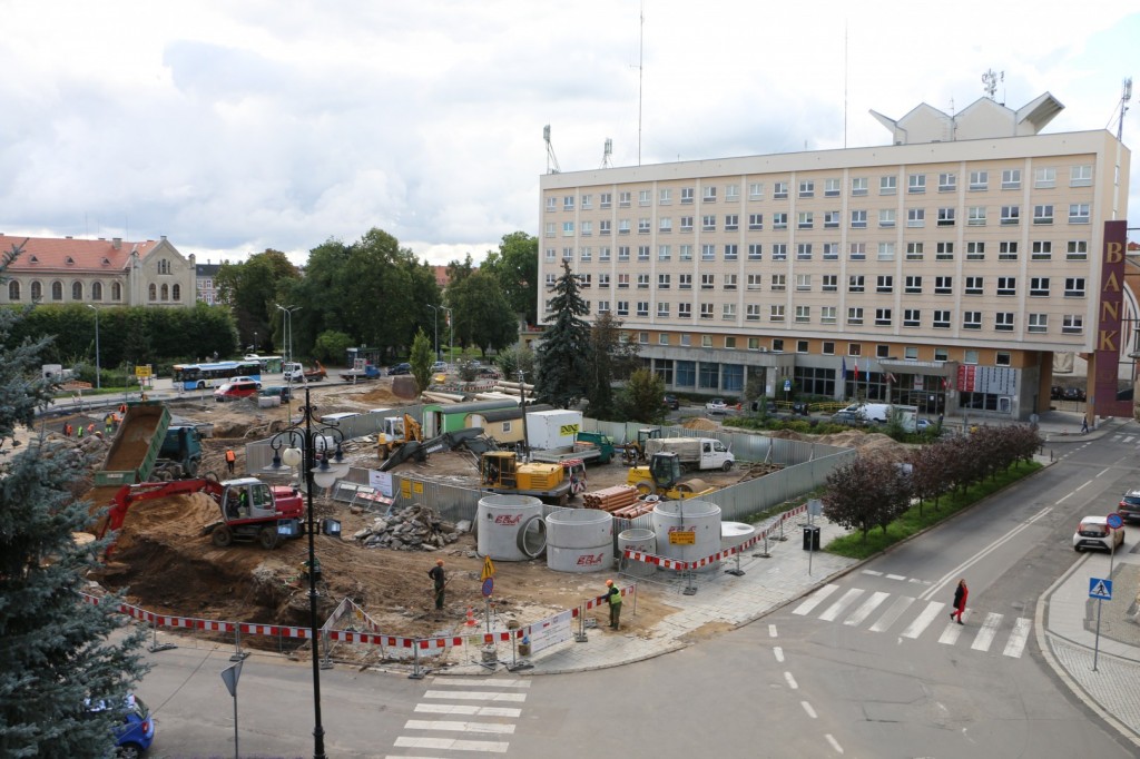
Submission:
<svg viewBox="0 0 1140 759">
<path fill-rule="evenodd" d="M 996 173 L 995 179 L 996 179 Z M 906 193 L 909 195 L 921 195 L 927 191 L 928 181 L 935 174 L 926 173 L 910 173 L 906 176 Z M 940 172 L 937 174 L 938 183 L 937 190 L 939 193 L 956 193 L 959 188 L 958 173 L 953 171 Z M 967 182 L 967 189 L 971 193 L 986 191 L 991 187 L 990 171 L 971 171 L 968 174 L 969 181 Z M 817 187 L 819 186 L 819 187 Z M 1021 189 L 1021 170 L 1020 169 L 1003 169 L 1001 171 L 1000 183 L 996 183 L 1003 190 L 1019 190 Z M 1091 187 L 1092 186 L 1092 165 L 1080 165 L 1069 168 L 1069 187 Z M 1041 166 L 1035 169 L 1033 172 L 1033 187 L 1034 189 L 1052 189 L 1057 187 L 1057 169 L 1053 166 Z M 749 201 L 763 201 L 765 197 L 765 183 L 764 182 L 749 182 L 748 183 L 748 199 Z M 842 180 L 839 178 L 824 179 L 822 182 L 817 182 L 815 179 L 804 179 L 798 183 L 796 196 L 800 198 L 813 198 L 816 197 L 816 190 L 822 191 L 823 197 L 839 197 L 842 193 Z M 706 185 L 701 187 L 701 202 L 702 203 L 716 203 L 717 202 L 717 185 Z M 727 183 L 724 186 L 724 199 L 726 202 L 738 202 L 741 199 L 741 186 L 735 183 Z M 879 195 L 895 195 L 898 191 L 898 176 L 887 174 L 879 177 Z M 858 197 L 868 195 L 870 193 L 870 179 L 868 177 L 853 177 L 850 180 L 850 195 Z M 618 191 L 618 207 L 626 209 L 633 205 L 633 190 L 619 190 Z M 773 199 L 785 199 L 790 195 L 790 185 L 785 181 L 772 182 L 772 197 Z M 658 189 L 657 202 L 658 205 L 671 205 L 674 202 L 674 188 L 662 187 Z M 695 201 L 695 189 L 692 187 L 679 188 L 679 194 L 676 196 L 682 205 L 691 204 Z M 610 209 L 613 207 L 613 193 L 598 193 L 598 207 Z M 562 210 L 573 211 L 576 201 L 578 201 L 575 195 L 562 196 Z M 653 203 L 653 190 L 642 189 L 637 190 L 637 205 L 649 206 Z M 580 197 L 580 207 L 583 211 L 589 211 L 594 207 L 594 195 L 591 193 L 584 193 Z M 546 210 L 557 211 L 559 198 L 555 195 L 548 195 L 546 197 Z"/>
</svg>

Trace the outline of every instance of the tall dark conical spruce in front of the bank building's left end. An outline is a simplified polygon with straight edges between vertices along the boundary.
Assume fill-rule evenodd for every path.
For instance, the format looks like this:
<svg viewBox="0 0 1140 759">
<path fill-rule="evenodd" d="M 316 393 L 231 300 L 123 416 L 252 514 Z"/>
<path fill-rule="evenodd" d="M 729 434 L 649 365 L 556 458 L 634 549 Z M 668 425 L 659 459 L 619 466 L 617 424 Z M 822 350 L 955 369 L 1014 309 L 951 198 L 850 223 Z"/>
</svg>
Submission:
<svg viewBox="0 0 1140 759">
<path fill-rule="evenodd" d="M 536 351 L 535 394 L 539 402 L 570 408 L 586 394 L 591 340 L 589 325 L 581 318 L 588 313 L 588 308 L 568 261 L 562 262 L 562 276 L 554 284 L 551 311 L 553 316 L 547 323 L 552 324 L 543 333 Z"/>
</svg>

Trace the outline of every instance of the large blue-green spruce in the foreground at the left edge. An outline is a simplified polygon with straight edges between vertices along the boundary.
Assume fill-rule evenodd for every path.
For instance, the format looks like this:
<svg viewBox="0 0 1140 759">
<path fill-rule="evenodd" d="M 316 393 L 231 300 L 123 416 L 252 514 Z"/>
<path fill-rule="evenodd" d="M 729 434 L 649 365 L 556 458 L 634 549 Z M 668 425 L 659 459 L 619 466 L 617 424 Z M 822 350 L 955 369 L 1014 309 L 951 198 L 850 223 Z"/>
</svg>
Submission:
<svg viewBox="0 0 1140 759">
<path fill-rule="evenodd" d="M 0 286 L 18 255 L 14 246 L 0 258 Z M 89 462 L 33 430 L 50 400 L 39 370 L 50 338 L 13 340 L 25 312 L 0 309 L 0 756 L 106 757 L 119 705 L 146 672 L 145 631 L 112 638 L 117 596 L 93 605 L 79 595 L 104 545 L 72 539 L 91 520 L 67 485 Z M 21 426 L 32 432 L 26 444 Z"/>
</svg>

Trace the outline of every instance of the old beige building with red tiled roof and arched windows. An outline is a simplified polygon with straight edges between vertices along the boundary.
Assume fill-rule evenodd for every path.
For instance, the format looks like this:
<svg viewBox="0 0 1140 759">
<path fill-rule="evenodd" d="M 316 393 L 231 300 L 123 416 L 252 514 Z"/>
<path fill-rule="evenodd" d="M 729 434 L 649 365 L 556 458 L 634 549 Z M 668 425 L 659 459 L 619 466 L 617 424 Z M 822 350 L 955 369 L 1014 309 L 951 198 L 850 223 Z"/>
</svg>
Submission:
<svg viewBox="0 0 1140 759">
<path fill-rule="evenodd" d="M 141 243 L 0 235 L 0 251 L 21 255 L 5 272 L 0 303 L 193 307 L 194 254 L 163 235 Z"/>
</svg>

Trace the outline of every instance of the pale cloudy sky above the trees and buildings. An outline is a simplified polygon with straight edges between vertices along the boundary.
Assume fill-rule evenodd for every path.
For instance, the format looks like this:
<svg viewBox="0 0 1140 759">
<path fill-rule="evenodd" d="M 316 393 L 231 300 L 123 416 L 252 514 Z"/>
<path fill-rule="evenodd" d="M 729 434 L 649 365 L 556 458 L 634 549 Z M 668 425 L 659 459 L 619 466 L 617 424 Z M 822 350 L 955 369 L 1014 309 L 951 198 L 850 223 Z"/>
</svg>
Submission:
<svg viewBox="0 0 1140 759">
<path fill-rule="evenodd" d="M 1066 106 L 1047 131 L 1115 132 L 1140 74 L 1131 2 L 776 5 L 0 0 L 0 231 L 480 260 L 537 234 L 545 124 L 563 171 L 606 138 L 614 165 L 883 145 L 869 109 L 961 109 L 992 68 Z"/>
</svg>

